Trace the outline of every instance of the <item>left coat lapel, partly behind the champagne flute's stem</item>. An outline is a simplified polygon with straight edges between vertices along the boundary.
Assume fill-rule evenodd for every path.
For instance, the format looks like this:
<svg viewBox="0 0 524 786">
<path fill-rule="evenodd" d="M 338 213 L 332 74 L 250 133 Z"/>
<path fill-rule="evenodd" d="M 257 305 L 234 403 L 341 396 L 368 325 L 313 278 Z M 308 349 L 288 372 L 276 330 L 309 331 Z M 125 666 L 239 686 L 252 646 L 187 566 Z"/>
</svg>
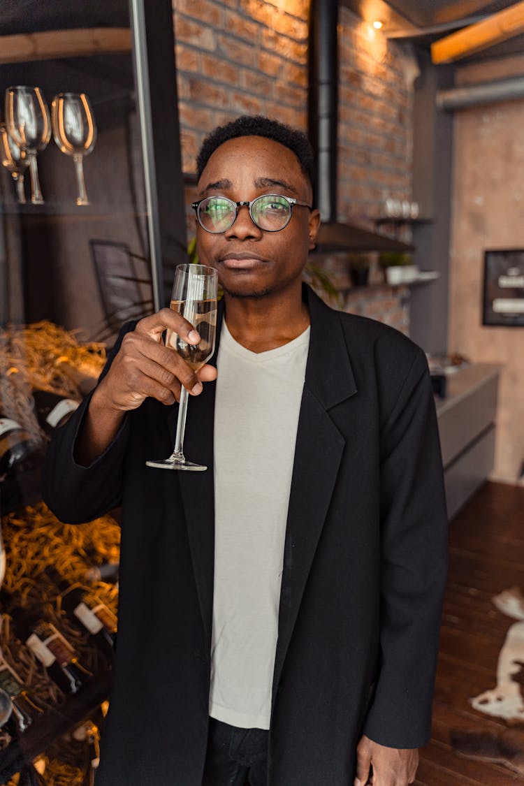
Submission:
<svg viewBox="0 0 524 786">
<path fill-rule="evenodd" d="M 222 328 L 224 307 L 218 305 L 217 341 L 211 365 L 217 365 L 218 343 Z M 207 466 L 205 472 L 177 472 L 184 503 L 185 522 L 188 528 L 189 549 L 195 573 L 196 591 L 200 602 L 207 652 L 211 652 L 211 625 L 213 619 L 214 571 L 214 393 L 216 385 L 207 382 L 198 396 L 190 396 L 185 421 L 184 454 L 189 461 Z M 174 433 L 178 406 L 169 416 L 170 435 Z"/>
</svg>

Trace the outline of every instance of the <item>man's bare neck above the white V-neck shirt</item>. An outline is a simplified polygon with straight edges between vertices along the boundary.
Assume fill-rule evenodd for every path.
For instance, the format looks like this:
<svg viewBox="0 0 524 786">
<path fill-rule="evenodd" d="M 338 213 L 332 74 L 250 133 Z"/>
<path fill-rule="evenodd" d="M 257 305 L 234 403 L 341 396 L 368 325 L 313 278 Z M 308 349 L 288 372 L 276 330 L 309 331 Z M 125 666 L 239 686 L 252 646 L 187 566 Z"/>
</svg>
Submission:
<svg viewBox="0 0 524 786">
<path fill-rule="evenodd" d="M 233 338 L 251 352 L 283 346 L 306 330 L 310 314 L 299 296 L 237 298 L 227 293 L 225 319 Z"/>
</svg>

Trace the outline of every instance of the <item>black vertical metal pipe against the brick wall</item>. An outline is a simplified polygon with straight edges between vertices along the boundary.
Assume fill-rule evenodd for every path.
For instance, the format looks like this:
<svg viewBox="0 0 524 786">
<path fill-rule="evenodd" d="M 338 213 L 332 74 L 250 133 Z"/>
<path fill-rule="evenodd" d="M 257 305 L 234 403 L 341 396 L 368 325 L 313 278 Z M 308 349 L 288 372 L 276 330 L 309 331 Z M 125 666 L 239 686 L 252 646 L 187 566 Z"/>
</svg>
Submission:
<svg viewBox="0 0 524 786">
<path fill-rule="evenodd" d="M 314 204 L 325 222 L 337 218 L 338 12 L 338 0 L 311 2 L 308 133 L 317 156 Z"/>
</svg>

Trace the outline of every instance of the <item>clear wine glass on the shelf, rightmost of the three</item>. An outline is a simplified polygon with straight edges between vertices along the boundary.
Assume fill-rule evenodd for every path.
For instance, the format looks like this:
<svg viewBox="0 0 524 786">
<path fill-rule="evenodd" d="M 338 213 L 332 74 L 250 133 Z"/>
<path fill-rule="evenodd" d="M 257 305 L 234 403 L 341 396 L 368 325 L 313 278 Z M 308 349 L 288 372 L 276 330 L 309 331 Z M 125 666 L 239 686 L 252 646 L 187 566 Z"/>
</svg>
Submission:
<svg viewBox="0 0 524 786">
<path fill-rule="evenodd" d="M 89 204 L 84 183 L 83 156 L 97 141 L 97 127 L 89 98 L 85 93 L 59 93 L 51 105 L 53 137 L 61 152 L 73 156 L 78 196 L 76 204 Z"/>
</svg>

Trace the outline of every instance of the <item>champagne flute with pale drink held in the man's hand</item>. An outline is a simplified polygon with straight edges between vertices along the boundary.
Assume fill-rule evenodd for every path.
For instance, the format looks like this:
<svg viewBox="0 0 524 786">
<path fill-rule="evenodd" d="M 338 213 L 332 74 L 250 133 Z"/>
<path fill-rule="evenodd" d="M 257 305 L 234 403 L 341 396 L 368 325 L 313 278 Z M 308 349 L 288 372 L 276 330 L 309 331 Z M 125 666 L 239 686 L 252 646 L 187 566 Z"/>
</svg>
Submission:
<svg viewBox="0 0 524 786">
<path fill-rule="evenodd" d="M 213 267 L 204 265 L 178 265 L 174 272 L 171 309 L 191 322 L 200 333 L 197 344 L 189 344 L 173 330 L 168 330 L 166 346 L 178 351 L 181 358 L 197 371 L 211 358 L 214 352 L 214 335 L 217 325 L 217 291 L 218 274 Z M 185 416 L 188 406 L 188 391 L 181 387 L 178 404 L 177 433 L 174 439 L 174 450 L 169 458 L 158 461 L 146 461 L 148 467 L 160 469 L 186 469 L 202 471 L 207 469 L 200 464 L 187 461 L 184 456 Z"/>
</svg>

